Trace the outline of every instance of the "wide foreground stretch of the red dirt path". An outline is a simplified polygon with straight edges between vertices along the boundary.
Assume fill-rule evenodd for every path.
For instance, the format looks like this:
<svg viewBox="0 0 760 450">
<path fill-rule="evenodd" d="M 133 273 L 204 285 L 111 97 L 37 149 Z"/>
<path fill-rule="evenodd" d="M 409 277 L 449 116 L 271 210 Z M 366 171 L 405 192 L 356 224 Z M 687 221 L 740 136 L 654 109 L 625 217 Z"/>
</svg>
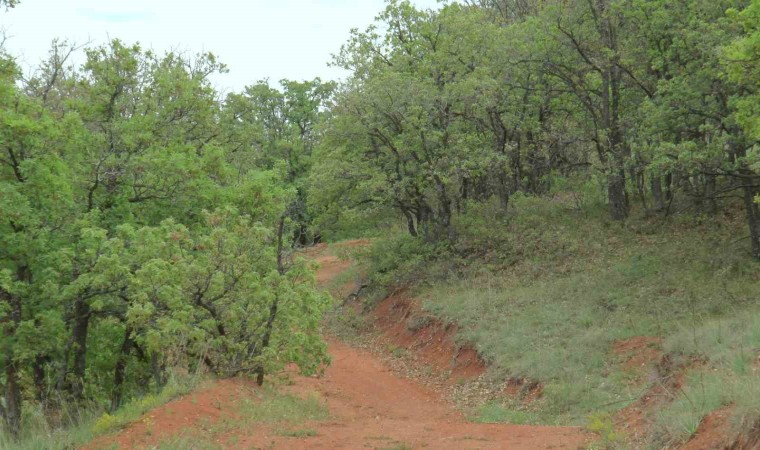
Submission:
<svg viewBox="0 0 760 450">
<path fill-rule="evenodd" d="M 304 424 L 317 436 L 255 434 L 239 448 L 358 449 L 406 445 L 430 449 L 579 449 L 588 436 L 572 427 L 469 423 L 434 391 L 400 378 L 372 353 L 330 342 L 332 365 L 320 378 L 296 378 L 291 388 L 318 392 L 332 418 Z"/>
</svg>

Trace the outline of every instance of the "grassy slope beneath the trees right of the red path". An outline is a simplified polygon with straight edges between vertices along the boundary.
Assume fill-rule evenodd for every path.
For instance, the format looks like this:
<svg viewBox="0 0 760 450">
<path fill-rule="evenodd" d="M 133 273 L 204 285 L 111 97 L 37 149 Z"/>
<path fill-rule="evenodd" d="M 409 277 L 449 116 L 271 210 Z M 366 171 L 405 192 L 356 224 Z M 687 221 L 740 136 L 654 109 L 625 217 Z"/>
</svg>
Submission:
<svg viewBox="0 0 760 450">
<path fill-rule="evenodd" d="M 614 418 L 658 380 L 626 368 L 613 344 L 647 336 L 662 339 L 669 370 L 686 374 L 653 412 L 650 445 L 687 440 L 726 405 L 735 432 L 755 426 L 760 266 L 741 246 L 742 217 L 728 210 L 622 225 L 603 208 L 582 191 L 516 196 L 507 215 L 471 205 L 451 245 L 377 239 L 359 255 L 373 286 L 367 301 L 409 287 L 425 310 L 458 325 L 458 339 L 478 349 L 495 382 L 540 383 L 537 401 L 489 403 L 479 420 Z"/>
</svg>

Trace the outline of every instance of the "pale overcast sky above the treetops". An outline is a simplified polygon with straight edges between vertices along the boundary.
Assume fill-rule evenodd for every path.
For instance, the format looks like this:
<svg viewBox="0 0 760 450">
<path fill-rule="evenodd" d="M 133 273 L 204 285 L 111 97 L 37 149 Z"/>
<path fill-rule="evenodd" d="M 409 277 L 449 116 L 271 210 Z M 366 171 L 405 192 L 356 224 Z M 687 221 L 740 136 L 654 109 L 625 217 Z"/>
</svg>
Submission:
<svg viewBox="0 0 760 450">
<path fill-rule="evenodd" d="M 437 8 L 437 0 L 413 0 Z M 77 43 L 119 38 L 156 51 L 211 51 L 230 73 L 223 90 L 269 78 L 337 79 L 327 67 L 351 28 L 364 29 L 383 0 L 21 0 L 0 11 L 6 47 L 25 71 L 44 58 L 51 41 Z"/>
</svg>

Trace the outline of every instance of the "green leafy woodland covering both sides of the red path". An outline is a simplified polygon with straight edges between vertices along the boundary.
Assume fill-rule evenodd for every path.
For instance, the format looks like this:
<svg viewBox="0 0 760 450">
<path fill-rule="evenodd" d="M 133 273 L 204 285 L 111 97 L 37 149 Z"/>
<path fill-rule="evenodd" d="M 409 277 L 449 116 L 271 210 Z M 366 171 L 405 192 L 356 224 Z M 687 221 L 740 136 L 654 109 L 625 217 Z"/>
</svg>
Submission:
<svg viewBox="0 0 760 450">
<path fill-rule="evenodd" d="M 594 292 L 622 277 L 628 295 L 656 278 L 667 306 L 640 316 L 638 294 L 620 306 L 583 291 L 599 300 L 584 329 L 749 318 L 735 335 L 754 344 L 730 376 L 760 393 L 760 1 L 389 0 L 330 63 L 350 76 L 222 95 L 212 53 L 59 40 L 26 75 L 0 51 L 8 442 L 32 416 L 65 427 L 183 374 L 318 373 L 335 304 L 300 249 L 358 237 L 376 243 L 370 291 L 456 273 L 475 292 L 487 271 L 520 295 L 544 272 L 583 272 L 607 283 Z M 618 267 L 609 255 L 634 262 L 602 272 Z M 486 356 L 512 349 L 480 323 L 489 300 L 468 295 L 429 309 Z M 510 326 L 530 335 L 531 320 Z M 559 377 L 514 345 L 489 361 Z M 594 412 L 561 403 L 558 422 Z M 744 406 L 758 427 L 760 405 Z"/>
</svg>

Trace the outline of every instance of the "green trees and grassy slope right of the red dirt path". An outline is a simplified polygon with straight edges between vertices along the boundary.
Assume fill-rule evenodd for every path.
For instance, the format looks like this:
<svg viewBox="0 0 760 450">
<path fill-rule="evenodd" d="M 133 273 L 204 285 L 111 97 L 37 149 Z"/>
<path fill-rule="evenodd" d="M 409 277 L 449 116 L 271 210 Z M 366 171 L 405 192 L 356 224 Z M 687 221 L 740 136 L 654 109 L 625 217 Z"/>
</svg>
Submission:
<svg viewBox="0 0 760 450">
<path fill-rule="evenodd" d="M 725 408 L 723 439 L 756 439 L 759 12 L 392 1 L 336 56 L 317 223 L 385 230 L 357 252 L 365 303 L 405 289 L 525 387 L 476 418 L 611 443 L 639 408 L 631 445 L 663 448 Z"/>
</svg>

